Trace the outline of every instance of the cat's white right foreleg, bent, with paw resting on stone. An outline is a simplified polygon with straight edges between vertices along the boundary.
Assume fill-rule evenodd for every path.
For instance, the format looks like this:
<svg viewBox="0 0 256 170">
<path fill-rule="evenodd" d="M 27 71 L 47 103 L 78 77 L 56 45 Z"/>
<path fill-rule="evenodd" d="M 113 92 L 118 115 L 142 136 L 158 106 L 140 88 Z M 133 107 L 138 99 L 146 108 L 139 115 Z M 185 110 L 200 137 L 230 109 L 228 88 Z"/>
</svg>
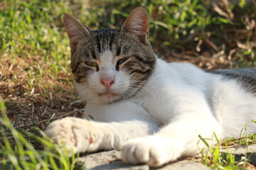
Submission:
<svg viewBox="0 0 256 170">
<path fill-rule="evenodd" d="M 183 155 L 199 152 L 198 148 L 205 147 L 199 142 L 203 138 L 214 138 L 213 132 L 220 137 L 221 128 L 215 118 L 181 115 L 179 120 L 166 125 L 154 135 L 130 140 L 122 147 L 122 160 L 128 164 L 144 163 L 150 166 L 161 166 L 175 161 Z M 187 118 L 186 118 L 187 117 Z M 214 141 L 208 141 L 214 144 Z"/>
</svg>

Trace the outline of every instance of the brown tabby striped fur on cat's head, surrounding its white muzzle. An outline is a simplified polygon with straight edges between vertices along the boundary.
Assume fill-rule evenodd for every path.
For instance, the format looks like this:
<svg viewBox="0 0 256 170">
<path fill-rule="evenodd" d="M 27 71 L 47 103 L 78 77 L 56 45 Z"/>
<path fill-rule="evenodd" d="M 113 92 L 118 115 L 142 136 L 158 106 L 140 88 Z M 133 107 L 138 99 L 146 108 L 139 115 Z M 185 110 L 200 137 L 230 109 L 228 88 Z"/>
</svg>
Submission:
<svg viewBox="0 0 256 170">
<path fill-rule="evenodd" d="M 147 33 L 144 34 L 146 38 L 143 39 L 140 32 L 137 34 L 134 30 L 126 28 L 125 25 L 121 29 L 89 30 L 73 16 L 66 14 L 65 18 L 67 28 L 70 27 L 68 24 L 70 21 L 73 22 L 74 30 L 79 30 L 77 31 L 78 35 L 70 35 L 71 69 L 78 89 L 84 89 L 84 84 L 90 84 L 88 79 L 93 74 L 100 75 L 104 71 L 102 67 L 108 61 L 103 60 L 105 58 L 103 55 L 108 53 L 112 55 L 110 63 L 115 68 L 112 75 L 114 79 L 117 72 L 124 72 L 132 83 L 127 89 L 120 92 L 122 95 L 118 98 L 109 98 L 107 102 L 112 103 L 134 96 L 150 77 L 156 62 L 154 52 L 147 40 Z M 73 37 L 76 37 L 74 42 L 72 41 Z M 124 62 L 119 64 L 121 60 Z M 97 67 L 90 67 L 86 62 L 95 62 Z M 100 84 L 100 76 L 98 82 Z M 90 90 L 90 86 L 87 88 Z M 130 93 L 131 90 L 132 93 Z M 97 96 L 97 94 L 95 95 Z M 88 94 L 82 96 L 87 98 Z"/>
</svg>

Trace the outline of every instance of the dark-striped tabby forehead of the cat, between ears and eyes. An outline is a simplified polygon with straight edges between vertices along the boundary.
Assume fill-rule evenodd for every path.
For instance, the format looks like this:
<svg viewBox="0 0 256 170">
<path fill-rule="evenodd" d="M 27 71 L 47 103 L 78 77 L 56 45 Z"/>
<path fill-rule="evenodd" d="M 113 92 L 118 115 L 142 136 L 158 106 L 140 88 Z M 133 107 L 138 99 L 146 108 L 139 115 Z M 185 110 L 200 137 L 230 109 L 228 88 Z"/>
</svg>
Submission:
<svg viewBox="0 0 256 170">
<path fill-rule="evenodd" d="M 142 43 L 120 29 L 90 30 L 90 35 L 82 41 L 78 55 L 75 55 L 78 61 L 99 60 L 110 63 L 119 57 L 129 57 L 134 54 L 144 55 L 140 54 L 143 51 Z"/>
</svg>

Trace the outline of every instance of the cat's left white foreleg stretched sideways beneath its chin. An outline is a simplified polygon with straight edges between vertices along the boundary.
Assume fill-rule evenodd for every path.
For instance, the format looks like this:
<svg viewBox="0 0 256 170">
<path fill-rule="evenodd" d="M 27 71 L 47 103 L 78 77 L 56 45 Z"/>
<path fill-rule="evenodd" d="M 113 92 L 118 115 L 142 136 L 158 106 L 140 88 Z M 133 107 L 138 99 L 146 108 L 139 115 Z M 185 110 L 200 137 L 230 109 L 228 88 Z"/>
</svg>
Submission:
<svg viewBox="0 0 256 170">
<path fill-rule="evenodd" d="M 100 149 L 121 149 L 124 142 L 135 137 L 151 135 L 159 130 L 158 125 L 149 119 L 145 120 L 141 116 L 144 113 L 134 113 L 134 111 L 144 112 L 144 110 L 138 109 L 138 106 L 135 107 L 132 104 L 129 107 L 128 105 L 127 109 L 124 109 L 121 113 L 120 110 L 114 111 L 113 106 L 110 109 L 104 108 L 105 113 L 112 113 L 105 117 L 105 119 L 112 118 L 112 121 L 108 120 L 110 123 L 100 123 L 80 118 L 63 118 L 51 123 L 46 129 L 46 135 L 57 145 L 64 145 L 69 153 L 72 150 L 77 153 L 93 152 Z M 116 108 L 119 109 L 119 106 Z M 101 112 L 104 109 L 98 111 Z M 131 120 L 129 120 L 128 114 L 132 115 Z"/>
</svg>

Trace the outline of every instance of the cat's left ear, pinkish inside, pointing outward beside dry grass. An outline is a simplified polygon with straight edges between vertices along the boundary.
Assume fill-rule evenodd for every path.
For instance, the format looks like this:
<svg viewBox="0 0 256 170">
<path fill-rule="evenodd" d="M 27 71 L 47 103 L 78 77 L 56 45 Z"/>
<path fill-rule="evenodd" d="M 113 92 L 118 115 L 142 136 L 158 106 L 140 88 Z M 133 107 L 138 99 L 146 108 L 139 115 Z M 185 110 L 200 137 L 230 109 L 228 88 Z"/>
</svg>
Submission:
<svg viewBox="0 0 256 170">
<path fill-rule="evenodd" d="M 63 21 L 65 28 L 70 39 L 70 50 L 75 52 L 78 45 L 78 40 L 81 38 L 87 39 L 90 35 L 90 31 L 85 28 L 75 17 L 70 16 L 68 13 L 64 13 Z"/>
</svg>

